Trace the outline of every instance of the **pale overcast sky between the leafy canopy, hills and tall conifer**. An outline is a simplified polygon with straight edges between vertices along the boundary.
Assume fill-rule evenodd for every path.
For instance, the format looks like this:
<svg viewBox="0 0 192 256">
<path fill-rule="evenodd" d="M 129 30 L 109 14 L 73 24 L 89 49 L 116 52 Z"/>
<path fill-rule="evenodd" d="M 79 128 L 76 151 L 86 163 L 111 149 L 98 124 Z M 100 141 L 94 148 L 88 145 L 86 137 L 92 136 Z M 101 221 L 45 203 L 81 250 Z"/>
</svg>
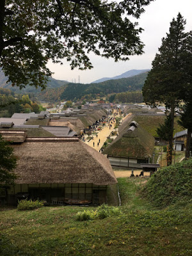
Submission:
<svg viewBox="0 0 192 256">
<path fill-rule="evenodd" d="M 161 39 L 166 36 L 170 28 L 170 22 L 178 13 L 186 19 L 186 31 L 192 30 L 192 0 L 156 0 L 145 7 L 138 19 L 139 26 L 143 29 L 141 40 L 145 44 L 145 53 L 141 56 L 131 56 L 129 61 L 115 63 L 113 59 L 106 60 L 94 54 L 90 54 L 92 70 L 70 70 L 67 61 L 63 65 L 48 63 L 48 67 L 54 72 L 55 79 L 68 82 L 92 83 L 102 77 L 118 76 L 131 69 L 151 68 L 152 60 L 161 46 Z"/>
</svg>

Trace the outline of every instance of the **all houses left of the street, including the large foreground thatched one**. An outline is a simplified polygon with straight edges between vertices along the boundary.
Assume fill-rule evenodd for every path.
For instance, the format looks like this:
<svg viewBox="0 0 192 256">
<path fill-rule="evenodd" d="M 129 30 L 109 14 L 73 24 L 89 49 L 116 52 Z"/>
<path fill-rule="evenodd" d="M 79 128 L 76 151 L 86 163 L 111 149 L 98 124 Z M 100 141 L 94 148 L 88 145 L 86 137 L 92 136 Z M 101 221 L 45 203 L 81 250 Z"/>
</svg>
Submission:
<svg viewBox="0 0 192 256">
<path fill-rule="evenodd" d="M 44 204 L 102 204 L 117 180 L 109 160 L 79 139 L 106 117 L 101 109 L 80 117 L 15 113 L 0 118 L 0 134 L 17 156 L 15 186 L 0 190 L 1 204 L 40 199 Z M 65 125 L 67 124 L 67 125 Z"/>
</svg>

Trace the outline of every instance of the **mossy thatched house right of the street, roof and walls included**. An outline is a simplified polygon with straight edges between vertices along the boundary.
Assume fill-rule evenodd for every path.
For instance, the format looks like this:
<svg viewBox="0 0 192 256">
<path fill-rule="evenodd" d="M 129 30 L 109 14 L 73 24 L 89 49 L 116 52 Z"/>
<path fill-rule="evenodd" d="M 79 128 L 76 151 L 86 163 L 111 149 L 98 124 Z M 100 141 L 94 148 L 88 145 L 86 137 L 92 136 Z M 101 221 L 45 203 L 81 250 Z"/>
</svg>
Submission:
<svg viewBox="0 0 192 256">
<path fill-rule="evenodd" d="M 141 168 L 140 163 L 148 163 L 152 157 L 154 142 L 154 137 L 136 122 L 129 120 L 126 129 L 124 126 L 102 153 L 108 155 L 111 165 Z"/>
</svg>

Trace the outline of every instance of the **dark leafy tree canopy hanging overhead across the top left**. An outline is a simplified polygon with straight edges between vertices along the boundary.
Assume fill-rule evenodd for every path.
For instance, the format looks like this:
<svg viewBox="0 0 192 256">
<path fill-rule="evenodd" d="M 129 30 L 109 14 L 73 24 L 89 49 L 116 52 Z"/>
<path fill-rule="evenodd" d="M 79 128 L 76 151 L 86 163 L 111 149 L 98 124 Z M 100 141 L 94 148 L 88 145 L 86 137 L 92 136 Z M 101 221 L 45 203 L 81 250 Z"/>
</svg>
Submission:
<svg viewBox="0 0 192 256">
<path fill-rule="evenodd" d="M 154 0 L 1 0 L 0 65 L 9 81 L 45 87 L 47 61 L 65 58 L 71 68 L 92 68 L 89 52 L 129 60 L 143 53 L 138 23 Z"/>
</svg>

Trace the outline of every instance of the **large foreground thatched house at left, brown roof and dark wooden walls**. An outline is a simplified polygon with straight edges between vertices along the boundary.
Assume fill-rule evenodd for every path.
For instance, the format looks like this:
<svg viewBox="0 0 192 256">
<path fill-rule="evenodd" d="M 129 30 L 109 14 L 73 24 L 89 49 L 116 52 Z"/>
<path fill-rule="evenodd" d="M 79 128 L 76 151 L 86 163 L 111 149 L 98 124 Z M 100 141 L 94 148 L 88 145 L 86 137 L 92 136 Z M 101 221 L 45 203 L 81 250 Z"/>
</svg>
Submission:
<svg viewBox="0 0 192 256">
<path fill-rule="evenodd" d="M 79 138 L 27 137 L 12 147 L 19 160 L 9 204 L 21 195 L 47 204 L 102 204 L 117 182 L 109 160 Z"/>
</svg>

